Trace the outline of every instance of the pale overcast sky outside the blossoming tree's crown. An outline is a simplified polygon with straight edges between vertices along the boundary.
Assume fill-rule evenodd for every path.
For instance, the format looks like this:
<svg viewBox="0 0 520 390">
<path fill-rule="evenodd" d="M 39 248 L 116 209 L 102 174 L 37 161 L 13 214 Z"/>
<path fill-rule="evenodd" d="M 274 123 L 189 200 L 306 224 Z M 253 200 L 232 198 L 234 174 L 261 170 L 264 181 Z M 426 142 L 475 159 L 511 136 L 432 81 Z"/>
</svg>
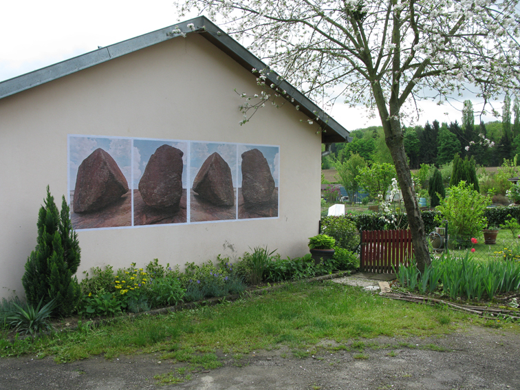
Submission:
<svg viewBox="0 0 520 390">
<path fill-rule="evenodd" d="M 2 1 L 0 14 L 0 81 L 177 23 L 173 0 Z M 415 124 L 461 122 L 457 109 L 462 109 L 462 100 L 455 108 L 435 102 L 418 105 L 424 112 L 419 119 L 415 115 Z M 477 111 L 477 100 L 473 105 Z M 494 107 L 501 112 L 501 102 Z M 348 109 L 338 102 L 331 114 L 347 130 L 380 125 L 365 109 Z"/>
</svg>

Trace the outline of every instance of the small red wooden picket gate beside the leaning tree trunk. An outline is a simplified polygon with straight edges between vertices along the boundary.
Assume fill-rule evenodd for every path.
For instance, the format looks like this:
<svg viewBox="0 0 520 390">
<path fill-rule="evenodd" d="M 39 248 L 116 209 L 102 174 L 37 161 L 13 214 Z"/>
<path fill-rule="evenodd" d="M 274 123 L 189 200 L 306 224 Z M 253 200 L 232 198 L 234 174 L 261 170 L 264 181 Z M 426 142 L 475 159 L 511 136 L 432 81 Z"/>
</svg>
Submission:
<svg viewBox="0 0 520 390">
<path fill-rule="evenodd" d="M 360 270 L 387 274 L 413 256 L 410 230 L 372 230 L 361 232 Z"/>
</svg>

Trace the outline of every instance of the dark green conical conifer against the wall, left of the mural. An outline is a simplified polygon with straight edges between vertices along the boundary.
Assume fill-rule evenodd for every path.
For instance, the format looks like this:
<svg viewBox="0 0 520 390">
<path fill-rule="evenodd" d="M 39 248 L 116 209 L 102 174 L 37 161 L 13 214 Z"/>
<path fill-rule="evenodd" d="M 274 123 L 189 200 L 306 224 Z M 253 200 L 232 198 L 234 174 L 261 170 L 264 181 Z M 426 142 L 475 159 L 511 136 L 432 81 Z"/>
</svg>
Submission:
<svg viewBox="0 0 520 390">
<path fill-rule="evenodd" d="M 22 284 L 28 303 L 48 303 L 54 299 L 54 313 L 72 314 L 80 300 L 78 280 L 73 277 L 80 263 L 80 249 L 72 230 L 69 206 L 63 197 L 61 214 L 47 186 L 45 206 L 38 217 L 36 248 L 25 263 Z"/>
</svg>

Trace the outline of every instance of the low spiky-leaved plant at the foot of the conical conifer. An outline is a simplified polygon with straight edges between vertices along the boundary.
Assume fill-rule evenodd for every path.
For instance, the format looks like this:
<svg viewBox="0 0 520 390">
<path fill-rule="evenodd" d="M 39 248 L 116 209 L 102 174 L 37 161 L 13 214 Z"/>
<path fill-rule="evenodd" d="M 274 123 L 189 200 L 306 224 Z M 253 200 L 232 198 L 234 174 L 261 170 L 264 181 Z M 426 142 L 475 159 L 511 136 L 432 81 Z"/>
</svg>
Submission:
<svg viewBox="0 0 520 390">
<path fill-rule="evenodd" d="M 31 334 L 32 336 L 34 336 L 36 332 L 50 329 L 47 319 L 51 316 L 54 307 L 56 307 L 56 301 L 52 299 L 41 307 L 42 303 L 43 297 L 35 309 L 29 302 L 25 304 L 25 307 L 13 302 L 14 312 L 8 317 L 10 325 L 15 327 L 17 332 Z"/>
</svg>

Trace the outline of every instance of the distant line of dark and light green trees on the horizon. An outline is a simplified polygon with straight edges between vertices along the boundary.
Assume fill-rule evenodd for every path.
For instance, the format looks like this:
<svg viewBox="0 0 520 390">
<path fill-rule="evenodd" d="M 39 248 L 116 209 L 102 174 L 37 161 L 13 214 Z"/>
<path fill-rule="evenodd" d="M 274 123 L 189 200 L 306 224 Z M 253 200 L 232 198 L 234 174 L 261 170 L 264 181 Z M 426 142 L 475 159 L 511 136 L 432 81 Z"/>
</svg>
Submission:
<svg viewBox="0 0 520 390">
<path fill-rule="evenodd" d="M 411 169 L 421 164 L 442 166 L 453 160 L 473 158 L 481 166 L 500 166 L 520 154 L 520 103 L 506 95 L 502 107 L 502 120 L 475 124 L 475 113 L 470 100 L 464 102 L 462 123 L 441 124 L 434 120 L 423 126 L 404 127 L 404 149 Z M 351 131 L 354 138 L 349 143 L 332 144 L 331 153 L 322 158 L 322 169 L 334 168 L 351 155 L 359 155 L 367 164 L 392 163 L 391 155 L 384 142 L 382 127 L 367 127 Z"/>
</svg>

